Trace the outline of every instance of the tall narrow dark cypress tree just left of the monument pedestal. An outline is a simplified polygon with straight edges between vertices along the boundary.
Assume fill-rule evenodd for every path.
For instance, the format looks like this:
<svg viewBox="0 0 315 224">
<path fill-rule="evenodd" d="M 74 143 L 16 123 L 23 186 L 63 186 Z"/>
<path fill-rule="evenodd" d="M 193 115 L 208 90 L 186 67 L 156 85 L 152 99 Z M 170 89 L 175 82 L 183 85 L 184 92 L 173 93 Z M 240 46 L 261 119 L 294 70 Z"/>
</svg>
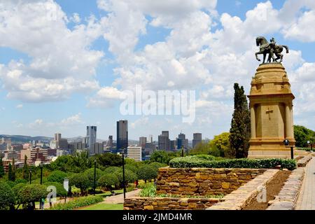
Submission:
<svg viewBox="0 0 315 224">
<path fill-rule="evenodd" d="M 251 137 L 251 118 L 244 88 L 234 84 L 234 113 L 230 129 L 230 146 L 236 158 L 246 158 Z"/>
</svg>

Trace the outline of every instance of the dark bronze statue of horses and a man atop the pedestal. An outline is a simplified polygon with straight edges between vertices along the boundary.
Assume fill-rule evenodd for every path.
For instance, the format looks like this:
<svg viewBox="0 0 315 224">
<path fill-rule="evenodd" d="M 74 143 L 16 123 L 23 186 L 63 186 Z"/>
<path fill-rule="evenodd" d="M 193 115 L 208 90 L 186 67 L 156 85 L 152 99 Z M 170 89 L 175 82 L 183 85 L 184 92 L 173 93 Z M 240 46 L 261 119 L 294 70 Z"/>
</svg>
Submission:
<svg viewBox="0 0 315 224">
<path fill-rule="evenodd" d="M 286 48 L 286 53 L 289 52 L 288 46 L 286 45 L 276 45 L 276 42 L 274 42 L 274 38 L 272 38 L 272 42 L 268 43 L 265 37 L 258 36 L 256 38 L 256 45 L 260 47 L 260 51 L 255 53 L 256 59 L 260 62 L 260 59 L 258 58 L 258 55 L 263 55 L 263 61 L 262 64 L 265 63 L 266 55 L 269 54 L 269 57 L 267 59 L 267 62 L 271 62 L 271 59 L 273 62 L 278 62 L 278 59 L 280 59 L 280 63 L 282 62 L 283 55 L 281 52 L 283 51 L 283 48 Z M 276 55 L 276 58 L 274 57 Z"/>
</svg>

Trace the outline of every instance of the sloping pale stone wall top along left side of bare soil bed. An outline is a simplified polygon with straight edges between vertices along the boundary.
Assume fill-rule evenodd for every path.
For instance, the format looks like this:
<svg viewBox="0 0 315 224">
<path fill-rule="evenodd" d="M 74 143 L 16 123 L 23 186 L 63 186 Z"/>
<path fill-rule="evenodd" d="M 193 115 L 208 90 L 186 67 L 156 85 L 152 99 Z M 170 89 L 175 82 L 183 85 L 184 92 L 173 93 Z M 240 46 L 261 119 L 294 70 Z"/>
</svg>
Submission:
<svg viewBox="0 0 315 224">
<path fill-rule="evenodd" d="M 264 174 L 257 176 L 244 186 L 223 197 L 223 202 L 218 202 L 207 210 L 241 210 L 246 207 L 254 197 L 260 193 L 259 187 L 266 186 L 279 172 L 278 169 L 268 169 Z"/>
</svg>

